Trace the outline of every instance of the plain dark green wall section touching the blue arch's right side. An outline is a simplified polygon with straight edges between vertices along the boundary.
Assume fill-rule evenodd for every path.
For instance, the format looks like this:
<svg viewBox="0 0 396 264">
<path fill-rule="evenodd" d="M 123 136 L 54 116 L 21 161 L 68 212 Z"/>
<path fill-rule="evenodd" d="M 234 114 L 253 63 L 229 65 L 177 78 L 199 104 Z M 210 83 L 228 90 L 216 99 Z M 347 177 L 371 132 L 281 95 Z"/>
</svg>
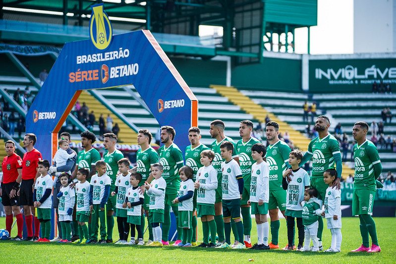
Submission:
<svg viewBox="0 0 396 264">
<path fill-rule="evenodd" d="M 170 60 L 188 86 L 226 85 L 226 61 L 172 57 Z"/>
</svg>

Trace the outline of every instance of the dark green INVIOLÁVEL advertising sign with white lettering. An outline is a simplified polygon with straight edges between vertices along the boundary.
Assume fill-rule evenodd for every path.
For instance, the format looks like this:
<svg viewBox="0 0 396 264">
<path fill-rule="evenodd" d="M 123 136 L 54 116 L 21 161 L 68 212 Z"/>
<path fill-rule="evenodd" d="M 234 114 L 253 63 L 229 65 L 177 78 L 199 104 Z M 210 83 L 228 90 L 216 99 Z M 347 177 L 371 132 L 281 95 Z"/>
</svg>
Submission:
<svg viewBox="0 0 396 264">
<path fill-rule="evenodd" d="M 395 86 L 396 59 L 309 60 L 312 92 L 371 92 L 373 83 L 381 81 Z"/>
</svg>

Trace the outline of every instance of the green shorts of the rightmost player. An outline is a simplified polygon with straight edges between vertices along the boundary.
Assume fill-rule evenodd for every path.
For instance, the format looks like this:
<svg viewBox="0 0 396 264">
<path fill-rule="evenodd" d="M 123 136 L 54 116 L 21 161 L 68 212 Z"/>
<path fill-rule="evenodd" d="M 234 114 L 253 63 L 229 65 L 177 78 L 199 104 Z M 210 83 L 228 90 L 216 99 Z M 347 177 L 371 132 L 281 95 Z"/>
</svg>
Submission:
<svg viewBox="0 0 396 264">
<path fill-rule="evenodd" d="M 376 191 L 371 190 L 353 190 L 352 215 L 373 215 L 373 205 L 376 193 Z"/>
</svg>

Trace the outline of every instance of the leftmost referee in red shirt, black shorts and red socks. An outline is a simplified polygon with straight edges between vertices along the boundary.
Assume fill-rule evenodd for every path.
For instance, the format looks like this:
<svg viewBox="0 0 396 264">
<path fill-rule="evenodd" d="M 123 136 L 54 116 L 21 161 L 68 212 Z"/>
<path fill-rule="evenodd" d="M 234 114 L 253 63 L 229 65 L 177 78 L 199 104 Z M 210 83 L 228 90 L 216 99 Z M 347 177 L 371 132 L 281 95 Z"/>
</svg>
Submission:
<svg viewBox="0 0 396 264">
<path fill-rule="evenodd" d="M 3 158 L 1 163 L 3 178 L 0 186 L 1 203 L 5 211 L 5 229 L 11 236 L 11 227 L 14 221 L 13 215 L 15 215 L 18 235 L 12 240 L 21 241 L 23 217 L 16 193 L 22 180 L 22 158 L 15 153 L 15 143 L 12 140 L 5 142 L 5 152 L 7 156 Z"/>
</svg>

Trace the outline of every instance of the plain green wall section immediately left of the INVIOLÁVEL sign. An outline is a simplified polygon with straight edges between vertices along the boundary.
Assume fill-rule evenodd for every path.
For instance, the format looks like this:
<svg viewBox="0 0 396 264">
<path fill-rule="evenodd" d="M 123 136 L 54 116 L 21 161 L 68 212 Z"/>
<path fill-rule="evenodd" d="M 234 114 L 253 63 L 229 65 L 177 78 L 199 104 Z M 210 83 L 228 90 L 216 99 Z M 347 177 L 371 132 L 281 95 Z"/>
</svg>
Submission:
<svg viewBox="0 0 396 264">
<path fill-rule="evenodd" d="M 301 92 L 301 60 L 264 58 L 264 62 L 232 68 L 231 85 L 237 88 Z"/>
</svg>

